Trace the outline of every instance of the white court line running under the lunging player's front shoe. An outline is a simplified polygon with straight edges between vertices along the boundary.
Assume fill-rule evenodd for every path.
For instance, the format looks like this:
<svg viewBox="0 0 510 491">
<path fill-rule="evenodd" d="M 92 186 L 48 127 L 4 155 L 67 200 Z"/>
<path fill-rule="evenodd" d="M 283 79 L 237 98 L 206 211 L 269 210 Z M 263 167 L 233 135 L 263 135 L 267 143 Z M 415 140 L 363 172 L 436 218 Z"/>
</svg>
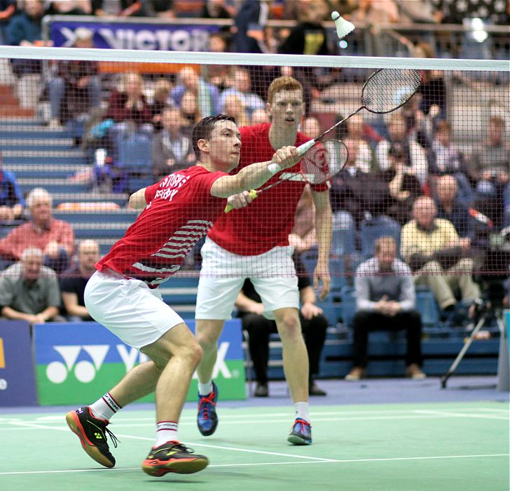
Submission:
<svg viewBox="0 0 510 491">
<path fill-rule="evenodd" d="M 210 464 L 209 467 L 249 467 L 249 466 L 281 466 L 281 465 L 303 465 L 303 464 L 351 464 L 356 462 L 397 462 L 403 460 L 438 460 L 438 459 L 480 459 L 483 457 L 509 457 L 510 454 L 483 454 L 483 455 L 438 455 L 435 457 L 386 457 L 377 459 L 342 459 L 342 460 L 321 460 L 319 462 L 259 462 L 247 464 Z M 69 472 L 120 472 L 120 471 L 139 471 L 139 467 L 117 467 L 115 469 L 67 469 L 59 471 L 9 471 L 0 472 L 0 476 L 12 474 L 52 474 Z"/>
</svg>

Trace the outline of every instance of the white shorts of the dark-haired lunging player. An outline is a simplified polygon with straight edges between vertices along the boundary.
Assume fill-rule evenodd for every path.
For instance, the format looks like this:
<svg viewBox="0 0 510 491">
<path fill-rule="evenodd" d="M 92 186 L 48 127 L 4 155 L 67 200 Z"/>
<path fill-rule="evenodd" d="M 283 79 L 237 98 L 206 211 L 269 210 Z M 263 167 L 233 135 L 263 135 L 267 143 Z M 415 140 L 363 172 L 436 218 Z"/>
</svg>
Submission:
<svg viewBox="0 0 510 491">
<path fill-rule="evenodd" d="M 184 322 L 163 302 L 156 288 L 111 269 L 90 276 L 84 298 L 95 321 L 136 349 L 157 341 L 174 325 Z"/>
</svg>

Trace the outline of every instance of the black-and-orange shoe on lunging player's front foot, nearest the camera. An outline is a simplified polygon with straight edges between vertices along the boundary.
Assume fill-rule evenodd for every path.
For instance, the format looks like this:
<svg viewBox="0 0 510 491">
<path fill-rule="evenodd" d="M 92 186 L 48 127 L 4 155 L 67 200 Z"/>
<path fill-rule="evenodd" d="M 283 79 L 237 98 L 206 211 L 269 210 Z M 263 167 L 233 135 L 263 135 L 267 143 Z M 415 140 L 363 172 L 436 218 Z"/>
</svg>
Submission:
<svg viewBox="0 0 510 491">
<path fill-rule="evenodd" d="M 152 448 L 142 462 L 142 469 L 150 476 L 159 478 L 168 472 L 192 474 L 205 469 L 208 464 L 209 459 L 205 455 L 196 455 L 182 443 L 170 441 Z"/>
</svg>

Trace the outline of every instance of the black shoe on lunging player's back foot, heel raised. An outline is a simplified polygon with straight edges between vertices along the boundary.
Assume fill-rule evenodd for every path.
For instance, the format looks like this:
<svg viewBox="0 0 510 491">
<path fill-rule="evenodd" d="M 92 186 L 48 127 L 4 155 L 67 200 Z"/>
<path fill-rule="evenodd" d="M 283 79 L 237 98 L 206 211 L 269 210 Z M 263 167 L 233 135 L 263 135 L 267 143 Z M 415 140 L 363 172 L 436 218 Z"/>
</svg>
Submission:
<svg viewBox="0 0 510 491">
<path fill-rule="evenodd" d="M 115 448 L 117 448 L 118 440 L 106 428 L 108 422 L 105 419 L 92 416 L 90 408 L 86 405 L 83 408 L 69 411 L 66 415 L 66 422 L 71 431 L 78 435 L 83 450 L 92 459 L 105 467 L 113 467 L 115 465 L 115 457 L 110 453 L 106 434 L 110 436 Z"/>
</svg>

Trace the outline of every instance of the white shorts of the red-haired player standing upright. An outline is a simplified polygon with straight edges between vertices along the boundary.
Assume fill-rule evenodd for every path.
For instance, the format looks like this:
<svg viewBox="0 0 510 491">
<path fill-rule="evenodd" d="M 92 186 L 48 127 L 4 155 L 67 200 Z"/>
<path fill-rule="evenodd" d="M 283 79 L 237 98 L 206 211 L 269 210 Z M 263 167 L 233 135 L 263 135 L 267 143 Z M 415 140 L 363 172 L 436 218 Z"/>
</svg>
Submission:
<svg viewBox="0 0 510 491">
<path fill-rule="evenodd" d="M 264 305 L 264 316 L 273 311 L 299 308 L 298 278 L 292 247 L 275 247 L 256 256 L 229 253 L 210 238 L 202 247 L 202 269 L 198 282 L 196 319 L 228 320 L 246 278 L 251 280 Z"/>
</svg>

